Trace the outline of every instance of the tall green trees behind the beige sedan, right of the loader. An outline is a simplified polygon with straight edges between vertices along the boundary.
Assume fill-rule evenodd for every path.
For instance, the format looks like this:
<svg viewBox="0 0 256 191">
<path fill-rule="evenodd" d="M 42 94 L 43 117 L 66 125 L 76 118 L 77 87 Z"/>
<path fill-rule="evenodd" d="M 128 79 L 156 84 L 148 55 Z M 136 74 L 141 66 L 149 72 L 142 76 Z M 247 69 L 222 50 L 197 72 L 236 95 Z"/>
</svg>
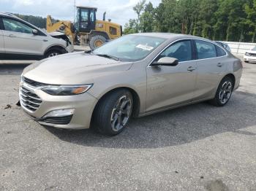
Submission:
<svg viewBox="0 0 256 191">
<path fill-rule="evenodd" d="M 124 34 L 169 32 L 233 42 L 256 41 L 256 0 L 146 0 L 133 7 L 136 19 Z"/>
</svg>

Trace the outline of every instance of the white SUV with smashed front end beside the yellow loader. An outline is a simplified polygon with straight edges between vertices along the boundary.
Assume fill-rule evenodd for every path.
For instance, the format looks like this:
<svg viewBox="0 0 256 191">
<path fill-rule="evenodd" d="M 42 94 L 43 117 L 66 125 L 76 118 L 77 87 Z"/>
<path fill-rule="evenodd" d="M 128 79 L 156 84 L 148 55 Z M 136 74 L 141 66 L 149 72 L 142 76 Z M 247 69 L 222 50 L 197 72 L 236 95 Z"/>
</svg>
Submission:
<svg viewBox="0 0 256 191">
<path fill-rule="evenodd" d="M 48 34 L 15 15 L 0 12 L 0 60 L 40 60 L 73 50 L 65 34 Z"/>
</svg>

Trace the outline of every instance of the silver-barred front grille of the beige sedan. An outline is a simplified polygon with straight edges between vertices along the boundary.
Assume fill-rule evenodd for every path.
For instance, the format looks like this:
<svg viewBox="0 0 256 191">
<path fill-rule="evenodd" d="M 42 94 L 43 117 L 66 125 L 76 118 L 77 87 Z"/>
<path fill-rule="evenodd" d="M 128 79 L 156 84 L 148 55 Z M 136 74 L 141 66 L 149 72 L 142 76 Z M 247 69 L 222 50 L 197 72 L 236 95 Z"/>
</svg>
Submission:
<svg viewBox="0 0 256 191">
<path fill-rule="evenodd" d="M 21 87 L 20 104 L 22 104 L 26 109 L 29 109 L 29 111 L 35 112 L 39 108 L 40 104 L 42 104 L 42 100 L 37 94 L 32 93 L 25 87 Z"/>
</svg>

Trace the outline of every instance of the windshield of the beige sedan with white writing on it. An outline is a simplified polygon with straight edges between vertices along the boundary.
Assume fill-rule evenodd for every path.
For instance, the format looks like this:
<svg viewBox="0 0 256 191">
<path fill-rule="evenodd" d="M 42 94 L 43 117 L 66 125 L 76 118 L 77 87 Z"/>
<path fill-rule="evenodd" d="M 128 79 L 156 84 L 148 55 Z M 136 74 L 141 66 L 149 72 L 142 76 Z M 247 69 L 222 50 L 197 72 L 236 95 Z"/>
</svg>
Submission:
<svg viewBox="0 0 256 191">
<path fill-rule="evenodd" d="M 119 61 L 140 61 L 165 41 L 164 38 L 127 35 L 98 47 L 93 53 Z"/>
</svg>

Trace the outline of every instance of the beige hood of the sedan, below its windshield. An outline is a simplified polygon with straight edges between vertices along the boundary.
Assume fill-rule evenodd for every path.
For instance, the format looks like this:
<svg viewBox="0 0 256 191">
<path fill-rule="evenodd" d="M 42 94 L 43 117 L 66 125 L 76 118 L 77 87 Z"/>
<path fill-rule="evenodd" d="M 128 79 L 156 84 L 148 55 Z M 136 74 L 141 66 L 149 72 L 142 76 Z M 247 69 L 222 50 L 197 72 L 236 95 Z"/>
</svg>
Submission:
<svg viewBox="0 0 256 191">
<path fill-rule="evenodd" d="M 132 63 L 75 52 L 34 63 L 24 69 L 23 76 L 50 85 L 82 85 L 93 83 L 100 75 L 129 70 L 131 66 Z"/>
</svg>

